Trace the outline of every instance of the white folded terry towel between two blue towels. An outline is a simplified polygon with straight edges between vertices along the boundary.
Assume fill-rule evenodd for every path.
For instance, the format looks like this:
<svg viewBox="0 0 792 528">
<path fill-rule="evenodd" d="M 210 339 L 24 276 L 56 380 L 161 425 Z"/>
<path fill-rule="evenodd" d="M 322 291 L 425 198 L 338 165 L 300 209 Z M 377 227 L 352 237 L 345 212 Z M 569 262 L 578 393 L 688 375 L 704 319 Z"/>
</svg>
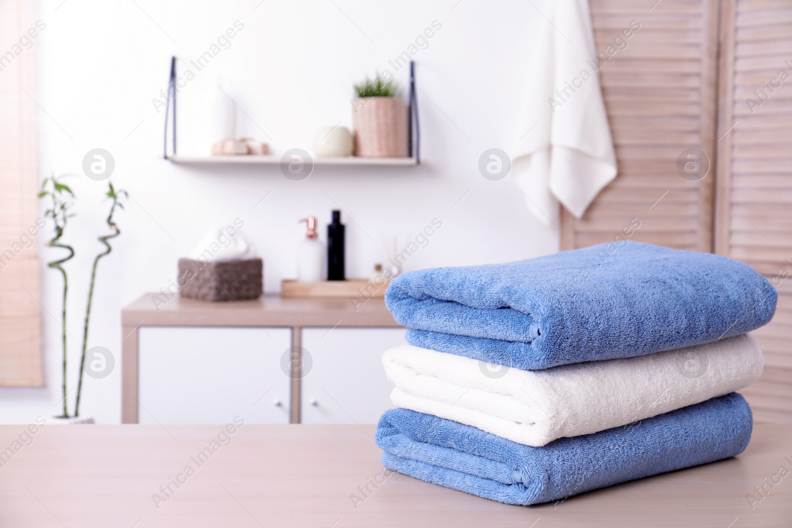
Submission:
<svg viewBox="0 0 792 528">
<path fill-rule="evenodd" d="M 394 405 L 527 446 L 596 433 L 742 389 L 763 359 L 751 336 L 544 370 L 501 367 L 410 345 L 383 355 Z"/>
</svg>

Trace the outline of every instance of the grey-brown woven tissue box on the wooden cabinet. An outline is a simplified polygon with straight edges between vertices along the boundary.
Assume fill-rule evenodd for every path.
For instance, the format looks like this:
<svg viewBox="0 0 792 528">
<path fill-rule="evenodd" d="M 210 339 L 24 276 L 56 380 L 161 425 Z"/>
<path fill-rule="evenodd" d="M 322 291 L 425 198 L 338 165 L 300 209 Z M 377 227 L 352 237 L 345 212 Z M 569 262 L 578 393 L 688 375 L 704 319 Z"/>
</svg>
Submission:
<svg viewBox="0 0 792 528">
<path fill-rule="evenodd" d="M 241 301 L 264 293 L 264 263 L 261 259 L 179 259 L 179 293 L 202 301 Z"/>
</svg>

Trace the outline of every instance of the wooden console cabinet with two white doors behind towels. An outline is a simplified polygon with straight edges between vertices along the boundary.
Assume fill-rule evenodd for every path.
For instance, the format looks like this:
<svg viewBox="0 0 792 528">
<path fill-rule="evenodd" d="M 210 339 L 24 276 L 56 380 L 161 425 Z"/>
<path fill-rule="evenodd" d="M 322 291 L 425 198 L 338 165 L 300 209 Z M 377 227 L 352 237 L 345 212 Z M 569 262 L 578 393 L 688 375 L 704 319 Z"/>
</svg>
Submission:
<svg viewBox="0 0 792 528">
<path fill-rule="evenodd" d="M 124 424 L 370 424 L 390 406 L 380 358 L 405 329 L 381 298 L 155 298 L 121 312 Z"/>
</svg>

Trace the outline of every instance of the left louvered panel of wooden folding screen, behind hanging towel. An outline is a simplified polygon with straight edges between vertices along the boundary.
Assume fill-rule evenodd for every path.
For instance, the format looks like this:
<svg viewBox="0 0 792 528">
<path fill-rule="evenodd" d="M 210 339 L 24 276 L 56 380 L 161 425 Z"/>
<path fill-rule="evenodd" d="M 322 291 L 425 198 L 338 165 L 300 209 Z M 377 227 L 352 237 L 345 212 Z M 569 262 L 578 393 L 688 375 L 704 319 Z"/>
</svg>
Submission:
<svg viewBox="0 0 792 528">
<path fill-rule="evenodd" d="M 631 21 L 640 29 L 600 70 L 619 176 L 583 218 L 563 214 L 562 249 L 611 241 L 633 218 L 631 240 L 712 249 L 714 177 L 685 179 L 677 159 L 699 149 L 702 167 L 714 161 L 718 2 L 655 2 L 591 0 L 599 53 Z"/>
</svg>

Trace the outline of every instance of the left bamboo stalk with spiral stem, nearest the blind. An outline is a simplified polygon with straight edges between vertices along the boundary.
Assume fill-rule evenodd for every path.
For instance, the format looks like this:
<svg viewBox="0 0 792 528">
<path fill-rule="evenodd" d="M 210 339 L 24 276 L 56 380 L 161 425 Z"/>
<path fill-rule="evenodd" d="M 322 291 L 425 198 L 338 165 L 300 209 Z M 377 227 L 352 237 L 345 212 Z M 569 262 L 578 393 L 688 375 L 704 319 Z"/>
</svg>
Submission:
<svg viewBox="0 0 792 528">
<path fill-rule="evenodd" d="M 52 237 L 48 243 L 51 248 L 61 248 L 67 250 L 67 256 L 59 260 L 53 260 L 47 265 L 49 268 L 57 269 L 63 276 L 63 306 L 61 307 L 61 346 L 63 348 L 63 418 L 69 417 L 69 410 L 67 408 L 67 391 L 66 391 L 66 371 L 67 371 L 67 348 L 66 348 L 66 300 L 69 291 L 69 281 L 66 270 L 63 269 L 63 263 L 70 260 L 74 256 L 74 248 L 70 245 L 62 244 L 60 238 L 63 237 L 63 232 L 66 230 L 69 218 L 74 216 L 70 213 L 73 205 L 73 200 L 70 199 L 74 196 L 71 189 L 66 185 L 60 183 L 55 176 L 44 178 L 41 183 L 41 190 L 39 198 L 51 199 L 51 207 L 44 211 L 45 218 L 51 218 L 52 224 L 55 226 L 55 236 Z"/>
</svg>

